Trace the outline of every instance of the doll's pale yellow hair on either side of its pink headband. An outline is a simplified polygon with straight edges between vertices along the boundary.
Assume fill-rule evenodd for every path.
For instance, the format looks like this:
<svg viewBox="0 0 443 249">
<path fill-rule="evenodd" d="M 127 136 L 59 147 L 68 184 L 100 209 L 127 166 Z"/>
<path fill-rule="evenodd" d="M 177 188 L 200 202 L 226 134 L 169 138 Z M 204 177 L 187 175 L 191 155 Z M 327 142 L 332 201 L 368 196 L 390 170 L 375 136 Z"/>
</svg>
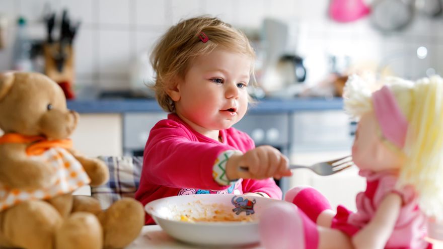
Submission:
<svg viewBox="0 0 443 249">
<path fill-rule="evenodd" d="M 416 82 L 391 78 L 386 85 L 393 92 L 408 131 L 403 148 L 405 156 L 400 169 L 398 188 L 414 186 L 420 209 L 426 214 L 443 218 L 443 79 L 439 76 Z M 358 76 L 349 79 L 345 87 L 345 111 L 359 118 L 373 111 L 371 91 Z M 395 146 L 391 143 L 391 146 Z"/>
</svg>

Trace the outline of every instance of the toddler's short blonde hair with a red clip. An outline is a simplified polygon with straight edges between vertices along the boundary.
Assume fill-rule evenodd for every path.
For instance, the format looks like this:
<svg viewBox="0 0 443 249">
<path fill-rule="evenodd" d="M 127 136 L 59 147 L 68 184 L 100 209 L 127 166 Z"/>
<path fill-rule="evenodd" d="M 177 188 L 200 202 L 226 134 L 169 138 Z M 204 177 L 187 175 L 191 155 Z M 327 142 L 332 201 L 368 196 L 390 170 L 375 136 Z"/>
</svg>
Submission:
<svg viewBox="0 0 443 249">
<path fill-rule="evenodd" d="M 200 32 L 209 41 L 203 43 L 199 38 Z M 174 102 L 166 92 L 174 86 L 174 77 L 184 78 L 193 58 L 206 55 L 215 48 L 250 56 L 253 78 L 255 52 L 248 38 L 217 18 L 200 16 L 180 21 L 161 37 L 151 54 L 151 63 L 156 72 L 156 82 L 152 88 L 165 111 L 175 111 Z"/>
</svg>

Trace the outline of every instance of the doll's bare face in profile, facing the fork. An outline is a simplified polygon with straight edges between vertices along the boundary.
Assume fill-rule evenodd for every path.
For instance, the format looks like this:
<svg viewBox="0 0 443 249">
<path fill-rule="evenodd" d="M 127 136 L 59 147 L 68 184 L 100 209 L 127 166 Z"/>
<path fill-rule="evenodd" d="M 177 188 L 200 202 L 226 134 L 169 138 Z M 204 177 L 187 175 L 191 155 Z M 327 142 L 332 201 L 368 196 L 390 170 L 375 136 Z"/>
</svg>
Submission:
<svg viewBox="0 0 443 249">
<path fill-rule="evenodd" d="M 403 164 L 398 152 L 389 148 L 380 135 L 374 113 L 361 116 L 352 145 L 352 158 L 361 170 L 398 170 Z"/>
</svg>

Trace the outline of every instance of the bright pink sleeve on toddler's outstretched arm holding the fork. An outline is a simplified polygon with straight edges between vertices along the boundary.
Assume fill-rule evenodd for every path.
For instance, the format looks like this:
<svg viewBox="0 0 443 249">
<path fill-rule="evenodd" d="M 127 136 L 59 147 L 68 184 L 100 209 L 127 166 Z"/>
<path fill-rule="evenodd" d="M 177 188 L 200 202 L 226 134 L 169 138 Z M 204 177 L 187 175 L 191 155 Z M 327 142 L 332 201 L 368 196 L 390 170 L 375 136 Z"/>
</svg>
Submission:
<svg viewBox="0 0 443 249">
<path fill-rule="evenodd" d="M 223 190 L 214 181 L 212 168 L 217 155 L 235 149 L 226 144 L 201 142 L 175 122 L 158 123 L 151 130 L 143 154 L 145 179 L 170 188 Z"/>
</svg>

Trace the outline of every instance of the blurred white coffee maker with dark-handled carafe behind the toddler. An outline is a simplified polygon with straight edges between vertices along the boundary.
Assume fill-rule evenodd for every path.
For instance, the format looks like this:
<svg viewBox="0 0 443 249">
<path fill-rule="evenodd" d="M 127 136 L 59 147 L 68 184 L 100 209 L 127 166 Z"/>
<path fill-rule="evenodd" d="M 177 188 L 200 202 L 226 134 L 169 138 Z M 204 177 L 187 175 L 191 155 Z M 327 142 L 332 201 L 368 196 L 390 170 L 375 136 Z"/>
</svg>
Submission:
<svg viewBox="0 0 443 249">
<path fill-rule="evenodd" d="M 259 86 L 270 97 L 291 98 L 301 91 L 307 70 L 297 54 L 300 22 L 266 18 L 262 25 L 263 71 Z"/>
</svg>

